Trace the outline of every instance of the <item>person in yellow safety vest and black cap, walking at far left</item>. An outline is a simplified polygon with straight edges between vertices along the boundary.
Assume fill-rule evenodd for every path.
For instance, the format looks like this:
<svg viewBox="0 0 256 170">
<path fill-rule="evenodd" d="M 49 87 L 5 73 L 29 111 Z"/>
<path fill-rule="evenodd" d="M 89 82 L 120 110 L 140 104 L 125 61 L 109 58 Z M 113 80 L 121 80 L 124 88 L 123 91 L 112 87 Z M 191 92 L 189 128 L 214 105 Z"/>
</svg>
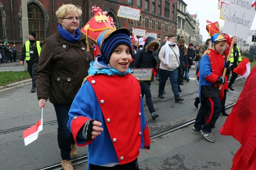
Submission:
<svg viewBox="0 0 256 170">
<path fill-rule="evenodd" d="M 29 41 L 26 41 L 22 49 L 20 64 L 24 64 L 24 59 L 28 64 L 28 72 L 32 79 L 31 92 L 35 92 L 35 72 L 37 71 L 38 60 L 41 52 L 40 41 L 35 39 L 35 32 L 29 32 Z"/>
</svg>

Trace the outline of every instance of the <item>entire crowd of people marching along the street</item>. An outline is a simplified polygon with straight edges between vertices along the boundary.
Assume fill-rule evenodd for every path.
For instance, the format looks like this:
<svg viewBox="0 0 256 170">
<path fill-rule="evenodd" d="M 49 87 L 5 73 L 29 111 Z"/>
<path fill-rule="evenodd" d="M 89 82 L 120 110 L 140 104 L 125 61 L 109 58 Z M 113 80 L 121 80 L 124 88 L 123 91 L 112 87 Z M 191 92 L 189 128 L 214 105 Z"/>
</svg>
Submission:
<svg viewBox="0 0 256 170">
<path fill-rule="evenodd" d="M 93 11 L 93 18 L 106 15 L 96 6 Z M 211 38 L 205 44 L 194 45 L 170 34 L 162 39 L 149 36 L 142 47 L 137 40 L 132 41 L 129 30 L 116 29 L 111 17 L 106 17 L 104 24 L 91 19 L 80 30 L 81 15 L 79 7 L 62 5 L 56 11 L 57 32 L 43 43 L 29 32 L 30 40 L 20 58 L 20 64 L 24 60 L 28 63 L 31 92 L 37 91 L 39 107 L 45 107 L 47 100 L 54 105 L 63 169 L 73 169 L 71 155 L 77 155 L 76 145 L 89 145 L 87 169 L 138 169 L 139 151 L 148 152 L 151 143 L 143 97 L 151 118 L 161 116 L 153 105 L 151 84 L 158 80 L 157 97 L 165 99 L 169 79 L 174 102 L 182 102 L 182 86 L 193 83 L 191 67 L 195 67 L 197 77 L 194 83 L 199 84 L 195 107 L 201 103 L 192 132 L 216 141 L 211 130 L 221 113 L 228 116 L 226 92 L 234 90 L 232 84 L 238 75 L 234 69 L 241 62 L 236 37 L 227 61 L 232 38 L 219 30 L 217 22 L 208 25 Z M 7 40 L 0 44 L 1 63 L 4 57 L 6 63 L 16 62 L 16 52 L 15 45 L 10 47 Z M 152 77 L 138 80 L 131 69 L 153 69 Z"/>
</svg>

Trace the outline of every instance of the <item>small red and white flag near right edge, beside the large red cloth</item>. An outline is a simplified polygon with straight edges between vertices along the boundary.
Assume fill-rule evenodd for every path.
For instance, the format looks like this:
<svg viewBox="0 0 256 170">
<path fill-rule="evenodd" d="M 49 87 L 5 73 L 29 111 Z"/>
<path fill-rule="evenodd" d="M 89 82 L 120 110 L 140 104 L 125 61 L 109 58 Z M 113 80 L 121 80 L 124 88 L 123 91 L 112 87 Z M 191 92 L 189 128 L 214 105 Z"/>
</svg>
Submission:
<svg viewBox="0 0 256 170">
<path fill-rule="evenodd" d="M 237 68 L 234 68 L 234 72 L 240 75 L 241 78 L 247 78 L 250 74 L 251 66 L 250 66 L 250 60 L 247 58 L 244 58 L 242 62 L 237 66 Z"/>
</svg>

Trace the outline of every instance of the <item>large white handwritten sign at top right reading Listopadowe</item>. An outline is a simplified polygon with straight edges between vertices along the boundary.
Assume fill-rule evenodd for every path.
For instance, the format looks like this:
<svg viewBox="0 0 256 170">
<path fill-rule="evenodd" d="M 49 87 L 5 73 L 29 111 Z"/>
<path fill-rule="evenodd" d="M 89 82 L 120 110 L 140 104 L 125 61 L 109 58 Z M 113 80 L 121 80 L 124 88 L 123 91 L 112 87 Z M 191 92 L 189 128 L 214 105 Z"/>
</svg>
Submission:
<svg viewBox="0 0 256 170">
<path fill-rule="evenodd" d="M 255 9 L 252 0 L 230 0 L 225 17 L 223 32 L 247 39 L 252 27 Z"/>
</svg>

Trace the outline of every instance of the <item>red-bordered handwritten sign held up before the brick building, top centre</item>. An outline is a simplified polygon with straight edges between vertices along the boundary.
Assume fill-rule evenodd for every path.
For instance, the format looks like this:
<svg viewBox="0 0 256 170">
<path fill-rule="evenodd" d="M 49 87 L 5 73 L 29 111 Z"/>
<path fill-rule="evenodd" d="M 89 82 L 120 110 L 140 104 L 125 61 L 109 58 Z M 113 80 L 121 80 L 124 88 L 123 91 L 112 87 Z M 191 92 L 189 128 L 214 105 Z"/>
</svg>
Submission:
<svg viewBox="0 0 256 170">
<path fill-rule="evenodd" d="M 118 11 L 117 11 L 117 16 L 139 21 L 140 13 L 141 13 L 141 9 L 124 6 L 124 5 L 119 5 Z"/>
</svg>

